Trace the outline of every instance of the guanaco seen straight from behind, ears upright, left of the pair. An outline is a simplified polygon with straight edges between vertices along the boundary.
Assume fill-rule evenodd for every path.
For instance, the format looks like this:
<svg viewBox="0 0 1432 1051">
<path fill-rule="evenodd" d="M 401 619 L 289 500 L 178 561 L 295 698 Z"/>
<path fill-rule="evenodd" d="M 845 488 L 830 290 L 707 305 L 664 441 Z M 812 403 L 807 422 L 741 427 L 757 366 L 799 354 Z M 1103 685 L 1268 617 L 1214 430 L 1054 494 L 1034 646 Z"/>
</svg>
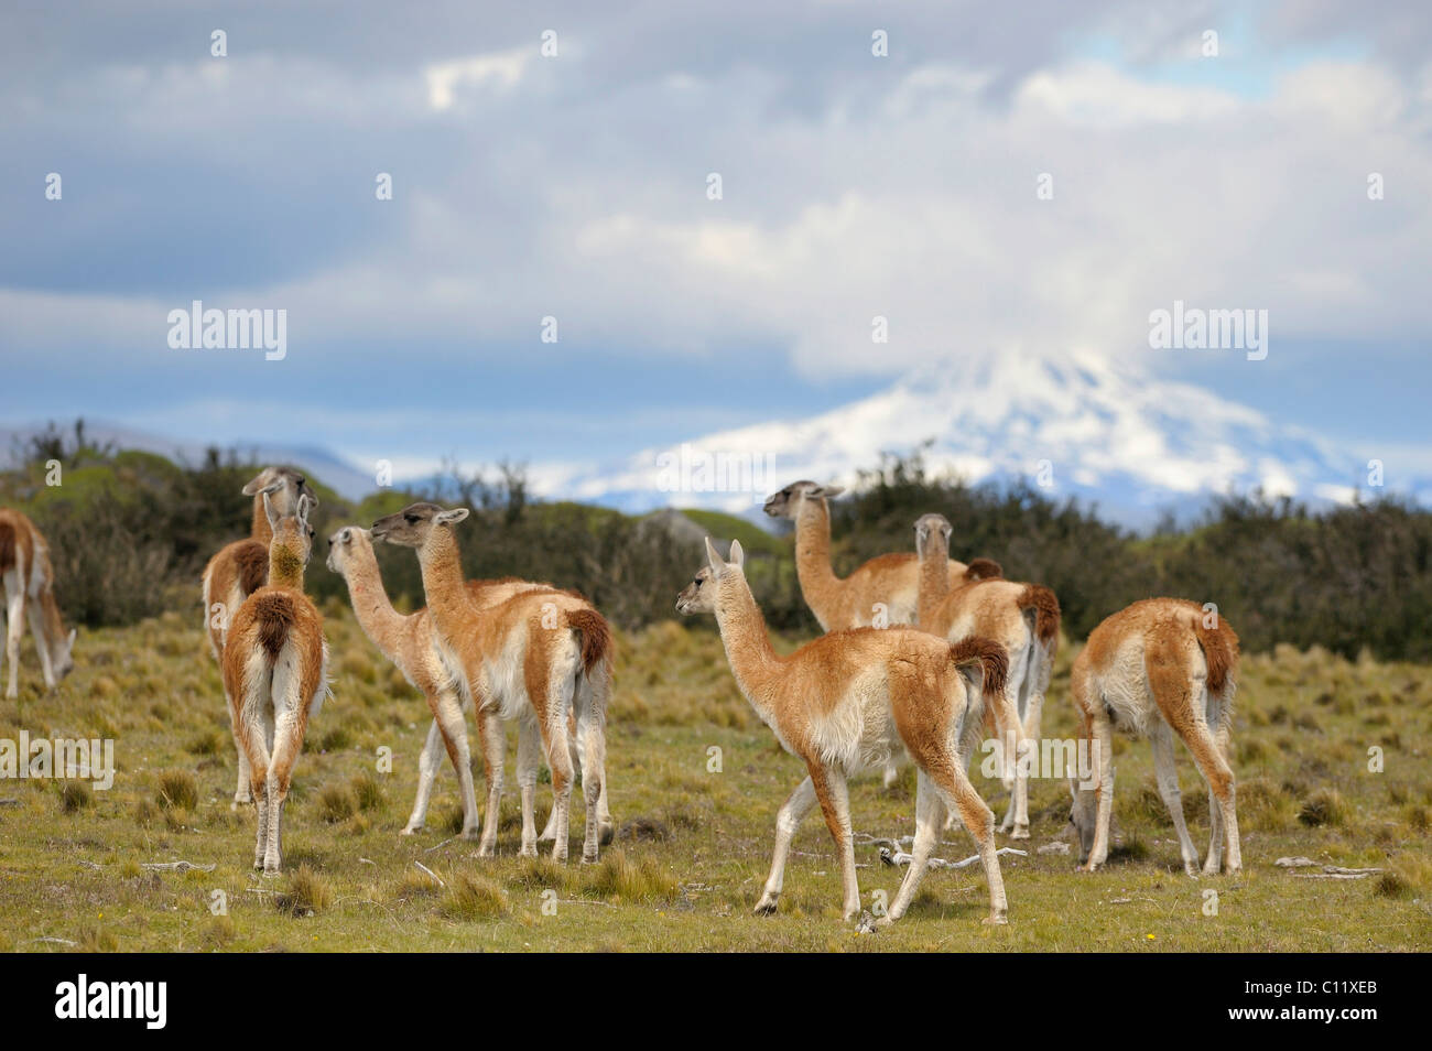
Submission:
<svg viewBox="0 0 1432 1051">
<path fill-rule="evenodd" d="M 253 868 L 275 875 L 284 862 L 281 825 L 294 765 L 308 720 L 328 692 L 328 641 L 324 619 L 304 594 L 314 537 L 308 495 L 299 495 L 292 515 L 278 513 L 268 490 L 262 500 L 274 530 L 268 583 L 243 600 L 229 623 L 223 689 L 258 803 Z"/>
</svg>

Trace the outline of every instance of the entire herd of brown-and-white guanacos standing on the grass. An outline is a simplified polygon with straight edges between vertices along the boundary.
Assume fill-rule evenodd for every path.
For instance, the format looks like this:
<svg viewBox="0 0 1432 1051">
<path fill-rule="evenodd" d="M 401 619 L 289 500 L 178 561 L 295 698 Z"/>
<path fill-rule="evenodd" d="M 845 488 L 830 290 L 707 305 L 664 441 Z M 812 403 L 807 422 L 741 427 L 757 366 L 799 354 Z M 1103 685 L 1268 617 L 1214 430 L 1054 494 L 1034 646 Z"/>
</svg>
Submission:
<svg viewBox="0 0 1432 1051">
<path fill-rule="evenodd" d="M 1027 780 L 1038 755 L 1040 720 L 1060 641 L 1060 604 L 1037 583 L 1004 578 L 988 558 L 949 557 L 951 526 L 938 514 L 915 523 L 911 551 L 872 558 L 846 577 L 831 564 L 831 507 L 839 487 L 798 481 L 765 504 L 795 526 L 802 594 L 825 634 L 782 656 L 770 644 L 746 583 L 739 541 L 729 554 L 707 538 L 705 563 L 680 591 L 682 614 L 716 619 L 732 674 L 806 778 L 780 806 L 770 873 L 758 914 L 776 911 L 785 865 L 802 819 L 816 806 L 835 839 L 842 909 L 861 905 L 848 779 L 879 769 L 886 783 L 904 762 L 916 767 L 911 863 L 886 915 L 899 919 L 925 873 L 939 830 L 958 819 L 978 845 L 990 891 L 985 922 L 1004 924 L 1007 898 L 995 849 L 995 819 L 967 769 L 990 732 L 1001 747 L 998 775 L 1010 790 L 1000 830 L 1030 836 Z M 233 806 L 253 803 L 253 865 L 282 869 L 282 813 L 308 720 L 328 694 L 324 621 L 304 593 L 318 497 L 308 480 L 265 468 L 243 487 L 253 501 L 251 536 L 223 547 L 203 571 L 205 631 L 219 663 L 238 755 Z M 463 577 L 458 530 L 467 508 L 412 504 L 328 538 L 328 567 L 344 577 L 369 640 L 425 697 L 432 727 L 420 759 L 418 795 L 404 833 L 422 828 L 445 752 L 463 796 L 463 835 L 478 856 L 497 849 L 505 725 L 517 722 L 517 785 L 523 855 L 551 841 L 566 861 L 571 789 L 581 778 L 581 861 L 610 842 L 606 717 L 613 689 L 613 631 L 583 596 L 540 581 Z M 398 613 L 384 590 L 374 543 L 412 548 L 427 607 Z M 53 593 L 49 547 L 23 514 L 0 510 L 0 584 L 6 614 L 6 696 L 17 696 L 26 619 L 47 687 L 74 662 Z M 1147 736 L 1158 792 L 1173 818 L 1190 875 L 1200 872 L 1184 822 L 1173 739 L 1180 737 L 1209 786 L 1211 839 L 1203 873 L 1242 868 L 1234 779 L 1229 766 L 1239 640 L 1217 613 L 1181 599 L 1148 599 L 1106 619 L 1074 659 L 1070 694 L 1080 742 L 1094 756 L 1091 778 L 1070 775 L 1070 819 L 1078 862 L 1108 858 L 1113 733 Z M 480 813 L 465 713 L 477 723 L 485 773 Z M 536 825 L 540 767 L 551 772 L 553 806 Z"/>
</svg>

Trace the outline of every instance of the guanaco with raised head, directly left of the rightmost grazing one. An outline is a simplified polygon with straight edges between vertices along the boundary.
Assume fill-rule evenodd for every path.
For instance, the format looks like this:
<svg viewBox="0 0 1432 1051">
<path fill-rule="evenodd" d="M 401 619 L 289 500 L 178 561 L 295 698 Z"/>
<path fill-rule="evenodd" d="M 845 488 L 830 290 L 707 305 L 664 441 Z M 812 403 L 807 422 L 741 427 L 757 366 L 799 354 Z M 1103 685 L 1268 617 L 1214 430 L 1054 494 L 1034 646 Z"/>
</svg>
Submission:
<svg viewBox="0 0 1432 1051">
<path fill-rule="evenodd" d="M 995 573 L 951 587 L 945 573 L 949 533 L 949 521 L 941 514 L 925 514 L 915 521 L 919 626 L 949 641 L 982 636 L 1004 647 L 1010 663 L 1008 703 L 994 717 L 1001 779 L 1011 793 L 1000 830 L 1012 829 L 1011 839 L 1028 839 L 1030 769 L 1028 759 L 1021 756 L 1030 755 L 1031 742 L 1038 747 L 1044 693 L 1060 641 L 1060 601 L 1047 587 L 1017 584 Z"/>
</svg>

